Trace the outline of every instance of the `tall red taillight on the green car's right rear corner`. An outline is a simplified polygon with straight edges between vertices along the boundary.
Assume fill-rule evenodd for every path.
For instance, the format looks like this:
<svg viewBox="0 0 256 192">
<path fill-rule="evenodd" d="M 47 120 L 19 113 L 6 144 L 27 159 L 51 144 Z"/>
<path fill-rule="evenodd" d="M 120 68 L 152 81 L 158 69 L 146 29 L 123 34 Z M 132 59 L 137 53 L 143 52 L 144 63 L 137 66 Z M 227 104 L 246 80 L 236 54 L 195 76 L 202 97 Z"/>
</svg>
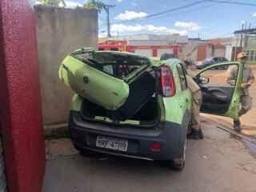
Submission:
<svg viewBox="0 0 256 192">
<path fill-rule="evenodd" d="M 176 93 L 174 74 L 168 66 L 162 66 L 160 70 L 160 88 L 162 96 L 172 97 Z"/>
</svg>

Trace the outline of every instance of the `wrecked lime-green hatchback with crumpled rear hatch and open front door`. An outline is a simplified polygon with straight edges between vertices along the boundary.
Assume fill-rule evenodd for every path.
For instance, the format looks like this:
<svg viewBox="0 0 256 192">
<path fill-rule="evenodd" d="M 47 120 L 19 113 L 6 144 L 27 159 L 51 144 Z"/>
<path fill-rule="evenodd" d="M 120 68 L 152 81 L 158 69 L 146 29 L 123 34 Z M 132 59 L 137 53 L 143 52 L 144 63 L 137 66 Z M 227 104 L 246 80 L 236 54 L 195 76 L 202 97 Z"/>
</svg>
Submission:
<svg viewBox="0 0 256 192">
<path fill-rule="evenodd" d="M 232 85 L 223 77 L 225 70 L 214 70 L 222 65 L 238 66 Z M 238 118 L 243 67 L 238 62 L 214 66 L 194 75 L 202 89 L 201 110 Z M 186 75 L 177 58 L 159 61 L 127 52 L 74 51 L 59 70 L 59 78 L 75 92 L 69 120 L 74 146 L 82 154 L 162 161 L 182 170 L 192 103 Z"/>
</svg>

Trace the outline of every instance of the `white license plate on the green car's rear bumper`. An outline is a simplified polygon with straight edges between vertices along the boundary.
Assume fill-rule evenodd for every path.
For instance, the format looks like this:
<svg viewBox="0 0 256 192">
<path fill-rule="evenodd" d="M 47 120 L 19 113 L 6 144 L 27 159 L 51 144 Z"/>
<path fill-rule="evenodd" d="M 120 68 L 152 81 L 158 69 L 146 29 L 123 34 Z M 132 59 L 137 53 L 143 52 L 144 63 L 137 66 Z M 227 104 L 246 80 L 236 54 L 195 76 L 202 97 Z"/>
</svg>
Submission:
<svg viewBox="0 0 256 192">
<path fill-rule="evenodd" d="M 117 139 L 117 138 L 107 138 L 107 137 L 98 136 L 96 141 L 96 146 L 110 149 L 110 150 L 127 151 L 128 141 Z"/>
</svg>

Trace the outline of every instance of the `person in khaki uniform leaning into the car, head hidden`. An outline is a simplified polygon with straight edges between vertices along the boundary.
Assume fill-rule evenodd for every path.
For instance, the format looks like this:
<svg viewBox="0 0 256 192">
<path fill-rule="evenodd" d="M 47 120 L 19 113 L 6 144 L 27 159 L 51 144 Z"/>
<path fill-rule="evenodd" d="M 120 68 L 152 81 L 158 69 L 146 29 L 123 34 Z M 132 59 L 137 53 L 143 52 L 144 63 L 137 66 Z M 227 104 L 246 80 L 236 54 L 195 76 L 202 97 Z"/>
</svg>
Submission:
<svg viewBox="0 0 256 192">
<path fill-rule="evenodd" d="M 193 78 L 186 74 L 187 86 L 192 93 L 192 109 L 191 109 L 191 126 L 190 133 L 187 135 L 187 138 L 192 139 L 203 139 L 201 122 L 200 122 L 200 106 L 202 104 L 202 92 L 200 87 Z"/>
</svg>

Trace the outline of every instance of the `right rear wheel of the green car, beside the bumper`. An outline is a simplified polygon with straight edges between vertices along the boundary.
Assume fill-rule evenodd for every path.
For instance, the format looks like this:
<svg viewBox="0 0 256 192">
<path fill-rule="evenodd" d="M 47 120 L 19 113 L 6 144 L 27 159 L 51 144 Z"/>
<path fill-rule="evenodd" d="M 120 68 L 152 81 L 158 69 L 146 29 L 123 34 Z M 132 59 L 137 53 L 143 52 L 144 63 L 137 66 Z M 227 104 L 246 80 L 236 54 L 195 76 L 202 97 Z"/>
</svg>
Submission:
<svg viewBox="0 0 256 192">
<path fill-rule="evenodd" d="M 185 167 L 185 161 L 186 161 L 186 138 L 185 138 L 184 144 L 182 146 L 182 153 L 179 154 L 177 158 L 174 158 L 171 160 L 170 168 L 172 170 L 181 171 Z"/>
</svg>

